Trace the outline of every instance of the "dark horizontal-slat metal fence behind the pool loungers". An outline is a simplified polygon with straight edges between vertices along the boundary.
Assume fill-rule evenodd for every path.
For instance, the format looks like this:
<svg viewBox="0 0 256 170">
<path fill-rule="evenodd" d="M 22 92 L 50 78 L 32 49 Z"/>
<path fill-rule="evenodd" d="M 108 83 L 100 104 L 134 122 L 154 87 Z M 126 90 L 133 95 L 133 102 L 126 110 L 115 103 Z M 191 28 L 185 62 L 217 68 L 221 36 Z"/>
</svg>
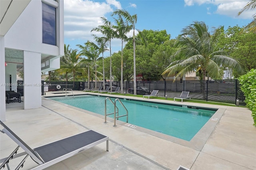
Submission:
<svg viewBox="0 0 256 170">
<path fill-rule="evenodd" d="M 75 82 L 73 87 L 73 82 L 66 81 L 51 81 L 46 82 L 51 84 L 48 87 L 49 91 L 57 91 L 57 85 L 63 88 L 70 88 L 73 90 L 83 90 L 88 89 L 88 82 Z M 113 84 L 120 87 L 119 81 L 113 81 Z M 110 84 L 106 82 L 106 84 Z M 95 82 L 90 82 L 90 87 L 94 86 L 95 89 L 98 89 L 103 85 L 103 82 L 97 82 L 97 87 L 95 87 Z M 128 93 L 128 88 L 133 88 L 133 81 L 129 83 L 124 81 L 123 91 Z M 235 105 L 245 106 L 244 102 L 244 93 L 240 89 L 240 84 L 237 79 L 232 80 L 184 80 L 184 81 L 137 81 L 137 86 L 146 87 L 150 91 L 158 90 L 158 96 L 160 97 L 179 97 L 182 91 L 189 91 L 188 97 L 191 99 L 198 99 L 204 101 L 215 101 L 215 102 L 224 102 L 231 103 Z M 43 94 L 43 93 L 42 93 Z"/>
</svg>

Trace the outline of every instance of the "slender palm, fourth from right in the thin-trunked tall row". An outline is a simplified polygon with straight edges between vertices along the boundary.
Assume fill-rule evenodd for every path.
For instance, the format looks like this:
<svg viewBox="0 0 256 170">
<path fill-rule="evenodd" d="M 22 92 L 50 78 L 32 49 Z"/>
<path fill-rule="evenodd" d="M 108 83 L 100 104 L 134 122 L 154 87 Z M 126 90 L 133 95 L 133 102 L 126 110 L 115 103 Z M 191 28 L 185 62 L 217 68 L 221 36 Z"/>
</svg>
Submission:
<svg viewBox="0 0 256 170">
<path fill-rule="evenodd" d="M 94 34 L 92 34 L 92 36 L 94 37 L 94 40 L 97 42 L 98 46 L 99 46 L 99 52 L 102 53 L 102 65 L 103 65 L 103 89 L 105 91 L 105 70 L 104 70 L 104 52 L 107 51 L 107 39 L 106 37 L 98 37 Z"/>
</svg>

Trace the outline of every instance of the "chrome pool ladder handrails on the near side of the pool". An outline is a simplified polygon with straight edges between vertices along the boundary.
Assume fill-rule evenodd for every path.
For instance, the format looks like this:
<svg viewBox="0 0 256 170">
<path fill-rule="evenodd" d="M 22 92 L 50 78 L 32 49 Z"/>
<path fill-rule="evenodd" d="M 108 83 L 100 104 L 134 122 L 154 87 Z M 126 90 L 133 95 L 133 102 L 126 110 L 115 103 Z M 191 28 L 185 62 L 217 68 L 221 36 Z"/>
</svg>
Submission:
<svg viewBox="0 0 256 170">
<path fill-rule="evenodd" d="M 108 113 L 107 114 L 107 100 L 111 101 L 111 103 L 114 105 L 114 113 Z M 124 109 L 126 110 L 126 115 L 121 115 L 119 116 L 119 111 L 118 111 L 118 107 L 116 106 L 116 101 L 119 101 L 119 103 L 122 105 L 122 107 L 124 107 Z M 114 114 L 114 125 L 113 127 L 116 127 L 116 118 L 118 119 L 119 117 L 124 117 L 126 116 L 126 123 L 128 123 L 128 110 L 126 109 L 126 107 L 124 106 L 124 104 L 120 101 L 120 99 L 116 98 L 115 102 L 113 102 L 109 97 L 107 97 L 105 99 L 105 122 L 107 123 L 107 115 L 112 115 Z M 117 116 L 116 116 L 117 114 Z"/>
</svg>

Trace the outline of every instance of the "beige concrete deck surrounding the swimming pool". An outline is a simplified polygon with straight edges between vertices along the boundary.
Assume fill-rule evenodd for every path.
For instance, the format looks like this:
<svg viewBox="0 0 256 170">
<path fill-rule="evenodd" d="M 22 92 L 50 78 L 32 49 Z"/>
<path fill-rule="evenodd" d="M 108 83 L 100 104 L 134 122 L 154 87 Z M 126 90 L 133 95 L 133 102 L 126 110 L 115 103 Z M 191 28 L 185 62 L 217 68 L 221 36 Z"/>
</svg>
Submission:
<svg viewBox="0 0 256 170">
<path fill-rule="evenodd" d="M 74 91 L 74 94 L 91 93 Z M 46 96 L 56 95 L 60 94 L 46 93 Z M 159 101 L 158 99 L 143 100 Z M 39 109 L 23 110 L 22 103 L 6 104 L 4 123 L 32 148 L 88 129 L 109 136 L 109 152 L 106 152 L 106 143 L 98 144 L 46 168 L 48 170 L 176 170 L 180 165 L 191 170 L 256 169 L 256 128 L 252 126 L 250 110 L 242 107 L 179 101 L 165 102 L 220 108 L 224 113 L 213 132 L 206 137 L 202 148 L 184 146 L 179 142 L 166 140 L 119 123 L 117 127 L 113 127 L 113 122 L 109 119 L 105 124 L 103 117 L 89 112 L 86 114 L 87 111 L 74 109 L 45 98 L 42 98 L 42 108 Z M 6 134 L 0 133 L 1 159 L 8 156 L 16 146 Z M 10 166 L 14 167 L 15 163 L 15 159 L 11 160 Z M 22 169 L 35 166 L 36 163 L 28 158 Z"/>
</svg>

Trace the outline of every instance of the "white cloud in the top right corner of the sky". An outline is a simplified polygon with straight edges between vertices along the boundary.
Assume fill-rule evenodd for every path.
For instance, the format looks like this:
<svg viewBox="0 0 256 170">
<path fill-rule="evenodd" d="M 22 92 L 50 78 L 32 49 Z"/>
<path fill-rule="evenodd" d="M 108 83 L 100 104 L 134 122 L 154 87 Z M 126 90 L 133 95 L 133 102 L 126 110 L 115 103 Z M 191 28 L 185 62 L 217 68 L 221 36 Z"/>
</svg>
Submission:
<svg viewBox="0 0 256 170">
<path fill-rule="evenodd" d="M 248 3 L 248 0 L 184 0 L 184 2 L 185 6 L 213 4 L 217 6 L 214 13 L 235 18 L 238 12 Z M 246 11 L 237 18 L 252 19 L 253 14 L 255 14 L 255 11 Z"/>
</svg>

